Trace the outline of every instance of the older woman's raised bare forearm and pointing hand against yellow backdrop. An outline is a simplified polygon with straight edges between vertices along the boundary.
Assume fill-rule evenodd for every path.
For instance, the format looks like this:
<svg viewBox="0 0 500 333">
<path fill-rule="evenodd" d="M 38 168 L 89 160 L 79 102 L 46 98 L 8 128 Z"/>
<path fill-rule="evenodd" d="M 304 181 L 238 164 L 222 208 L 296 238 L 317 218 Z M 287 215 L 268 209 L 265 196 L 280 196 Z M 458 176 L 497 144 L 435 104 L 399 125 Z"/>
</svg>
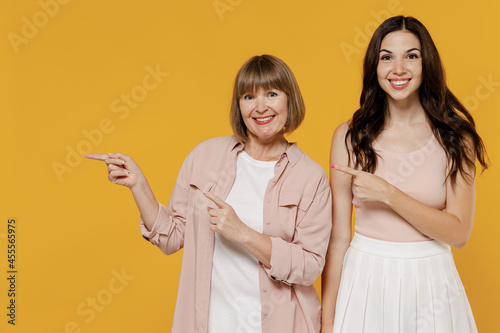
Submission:
<svg viewBox="0 0 500 333">
<path fill-rule="evenodd" d="M 109 155 L 86 154 L 86 158 L 103 161 L 108 167 L 108 179 L 118 185 L 126 186 L 132 191 L 141 218 L 148 230 L 153 227 L 158 215 L 158 202 L 151 187 L 137 163 L 122 153 Z"/>
</svg>

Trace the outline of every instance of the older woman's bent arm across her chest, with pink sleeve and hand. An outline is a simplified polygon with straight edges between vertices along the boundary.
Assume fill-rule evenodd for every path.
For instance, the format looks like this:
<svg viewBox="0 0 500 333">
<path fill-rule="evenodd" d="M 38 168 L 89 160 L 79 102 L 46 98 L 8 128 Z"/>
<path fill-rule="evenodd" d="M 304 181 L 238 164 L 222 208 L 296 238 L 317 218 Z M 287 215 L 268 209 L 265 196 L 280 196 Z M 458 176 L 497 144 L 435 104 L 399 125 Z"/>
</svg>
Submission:
<svg viewBox="0 0 500 333">
<path fill-rule="evenodd" d="M 297 222 L 293 240 L 269 237 L 251 229 L 222 199 L 210 192 L 204 195 L 218 207 L 208 210 L 210 230 L 243 246 L 263 264 L 270 278 L 287 284 L 310 285 L 321 274 L 331 229 L 328 187 L 316 194 L 308 213 Z"/>
</svg>

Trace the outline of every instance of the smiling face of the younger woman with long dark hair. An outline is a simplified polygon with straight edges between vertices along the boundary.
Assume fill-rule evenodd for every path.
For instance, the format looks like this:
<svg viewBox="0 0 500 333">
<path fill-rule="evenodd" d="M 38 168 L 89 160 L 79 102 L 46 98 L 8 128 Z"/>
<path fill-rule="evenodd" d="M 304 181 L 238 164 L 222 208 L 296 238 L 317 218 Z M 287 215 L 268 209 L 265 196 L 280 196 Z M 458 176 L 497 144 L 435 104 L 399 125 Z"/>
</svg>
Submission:
<svg viewBox="0 0 500 333">
<path fill-rule="evenodd" d="M 418 101 L 422 55 L 418 38 L 409 31 L 387 34 L 380 44 L 377 76 L 389 102 Z"/>
</svg>

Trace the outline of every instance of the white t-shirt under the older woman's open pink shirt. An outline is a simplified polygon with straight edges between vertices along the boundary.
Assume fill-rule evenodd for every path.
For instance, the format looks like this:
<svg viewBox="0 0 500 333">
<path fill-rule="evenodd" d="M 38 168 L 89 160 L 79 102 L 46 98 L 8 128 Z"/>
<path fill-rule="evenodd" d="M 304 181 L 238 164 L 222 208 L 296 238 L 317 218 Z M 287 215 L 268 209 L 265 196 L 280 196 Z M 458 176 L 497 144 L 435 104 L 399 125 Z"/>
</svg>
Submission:
<svg viewBox="0 0 500 333">
<path fill-rule="evenodd" d="M 238 154 L 226 202 L 250 228 L 262 232 L 264 195 L 276 161 Z M 259 262 L 242 246 L 215 233 L 208 318 L 210 333 L 261 333 Z"/>
</svg>

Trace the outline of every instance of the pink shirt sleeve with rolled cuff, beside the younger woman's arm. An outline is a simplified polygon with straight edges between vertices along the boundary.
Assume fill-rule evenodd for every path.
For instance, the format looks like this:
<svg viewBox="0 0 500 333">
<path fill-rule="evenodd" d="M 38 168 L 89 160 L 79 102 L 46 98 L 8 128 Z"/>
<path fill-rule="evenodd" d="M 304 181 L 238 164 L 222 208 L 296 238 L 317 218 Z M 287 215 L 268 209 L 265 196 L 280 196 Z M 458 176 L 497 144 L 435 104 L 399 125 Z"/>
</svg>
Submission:
<svg viewBox="0 0 500 333">
<path fill-rule="evenodd" d="M 331 227 L 332 197 L 327 186 L 297 224 L 292 242 L 271 237 L 271 268 L 264 267 L 268 276 L 289 285 L 311 285 L 323 271 Z"/>
</svg>

